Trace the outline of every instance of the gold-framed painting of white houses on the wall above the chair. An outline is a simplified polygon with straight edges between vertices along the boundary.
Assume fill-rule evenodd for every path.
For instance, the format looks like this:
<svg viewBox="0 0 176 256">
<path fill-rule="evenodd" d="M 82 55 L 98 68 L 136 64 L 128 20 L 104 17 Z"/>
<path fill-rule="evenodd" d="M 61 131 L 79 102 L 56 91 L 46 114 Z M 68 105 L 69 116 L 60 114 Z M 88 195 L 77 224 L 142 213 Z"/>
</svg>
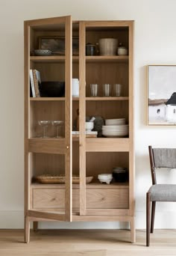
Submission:
<svg viewBox="0 0 176 256">
<path fill-rule="evenodd" d="M 148 65 L 148 125 L 176 124 L 176 66 Z"/>
</svg>

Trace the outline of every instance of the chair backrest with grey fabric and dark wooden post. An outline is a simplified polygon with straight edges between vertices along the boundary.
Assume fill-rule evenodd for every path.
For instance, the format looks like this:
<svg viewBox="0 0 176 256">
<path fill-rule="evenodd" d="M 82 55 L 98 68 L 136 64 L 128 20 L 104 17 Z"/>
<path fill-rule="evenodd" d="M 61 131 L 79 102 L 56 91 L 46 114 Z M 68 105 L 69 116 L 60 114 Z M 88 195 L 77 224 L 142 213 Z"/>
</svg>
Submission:
<svg viewBox="0 0 176 256">
<path fill-rule="evenodd" d="M 176 168 L 176 148 L 152 148 L 148 146 L 152 184 L 157 184 L 156 168 Z"/>
</svg>

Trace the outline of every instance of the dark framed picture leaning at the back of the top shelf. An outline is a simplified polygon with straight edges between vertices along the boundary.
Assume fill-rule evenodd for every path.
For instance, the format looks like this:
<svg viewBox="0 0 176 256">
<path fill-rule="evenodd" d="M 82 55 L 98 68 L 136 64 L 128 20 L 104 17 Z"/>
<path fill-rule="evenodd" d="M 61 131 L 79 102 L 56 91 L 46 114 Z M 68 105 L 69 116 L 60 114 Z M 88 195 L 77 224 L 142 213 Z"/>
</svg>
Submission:
<svg viewBox="0 0 176 256">
<path fill-rule="evenodd" d="M 49 49 L 52 55 L 65 55 L 65 37 L 39 37 L 39 49 Z M 72 55 L 79 54 L 79 39 L 72 37 Z"/>
</svg>

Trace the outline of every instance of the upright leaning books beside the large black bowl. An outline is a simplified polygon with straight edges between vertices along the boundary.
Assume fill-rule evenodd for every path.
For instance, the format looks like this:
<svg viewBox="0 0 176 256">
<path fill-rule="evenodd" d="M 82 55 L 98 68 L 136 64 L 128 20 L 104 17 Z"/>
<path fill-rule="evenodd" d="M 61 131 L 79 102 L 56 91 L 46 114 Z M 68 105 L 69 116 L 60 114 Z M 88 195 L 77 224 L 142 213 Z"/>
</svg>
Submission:
<svg viewBox="0 0 176 256">
<path fill-rule="evenodd" d="M 30 70 L 31 97 L 40 97 L 40 72 L 38 70 Z"/>
</svg>

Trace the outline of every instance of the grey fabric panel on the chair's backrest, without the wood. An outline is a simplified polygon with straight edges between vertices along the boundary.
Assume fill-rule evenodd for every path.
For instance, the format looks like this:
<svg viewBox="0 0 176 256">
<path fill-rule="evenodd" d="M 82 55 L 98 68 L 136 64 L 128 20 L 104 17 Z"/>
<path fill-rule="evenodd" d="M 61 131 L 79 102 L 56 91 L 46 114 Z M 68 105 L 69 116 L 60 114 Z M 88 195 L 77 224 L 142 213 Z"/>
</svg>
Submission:
<svg viewBox="0 0 176 256">
<path fill-rule="evenodd" d="M 176 168 L 176 148 L 153 148 L 156 168 Z"/>
</svg>

